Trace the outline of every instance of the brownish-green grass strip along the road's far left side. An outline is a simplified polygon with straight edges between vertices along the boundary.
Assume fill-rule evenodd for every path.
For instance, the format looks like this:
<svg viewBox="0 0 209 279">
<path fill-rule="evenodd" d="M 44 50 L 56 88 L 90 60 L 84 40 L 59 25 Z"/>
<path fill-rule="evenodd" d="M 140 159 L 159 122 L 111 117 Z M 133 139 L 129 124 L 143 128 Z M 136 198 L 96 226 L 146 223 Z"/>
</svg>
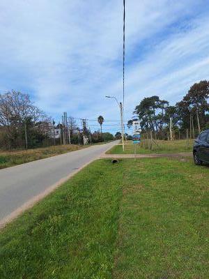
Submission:
<svg viewBox="0 0 209 279">
<path fill-rule="evenodd" d="M 23 163 L 29 163 L 34 160 L 52 157 L 55 155 L 67 153 L 83 149 L 86 146 L 79 145 L 58 145 L 49 146 L 39 149 L 28 150 L 13 150 L 13 151 L 1 151 L 0 150 L 0 169 L 5 167 L 12 167 L 14 165 L 20 165 Z"/>
</svg>

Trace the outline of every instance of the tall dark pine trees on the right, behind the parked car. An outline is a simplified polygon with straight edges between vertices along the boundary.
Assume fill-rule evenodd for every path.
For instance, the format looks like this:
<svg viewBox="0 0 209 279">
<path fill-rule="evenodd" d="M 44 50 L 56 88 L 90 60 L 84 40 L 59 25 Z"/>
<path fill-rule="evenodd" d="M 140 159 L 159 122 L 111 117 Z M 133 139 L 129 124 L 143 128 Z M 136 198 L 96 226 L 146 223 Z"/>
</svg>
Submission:
<svg viewBox="0 0 209 279">
<path fill-rule="evenodd" d="M 139 120 L 142 132 L 151 130 L 159 137 L 167 138 L 172 128 L 174 132 L 182 133 L 189 130 L 192 137 L 209 128 L 208 96 L 209 81 L 202 80 L 193 84 L 176 105 L 169 105 L 168 100 L 161 100 L 159 96 L 144 98 L 135 107 L 133 114 L 136 117 L 127 122 L 127 127 Z"/>
</svg>

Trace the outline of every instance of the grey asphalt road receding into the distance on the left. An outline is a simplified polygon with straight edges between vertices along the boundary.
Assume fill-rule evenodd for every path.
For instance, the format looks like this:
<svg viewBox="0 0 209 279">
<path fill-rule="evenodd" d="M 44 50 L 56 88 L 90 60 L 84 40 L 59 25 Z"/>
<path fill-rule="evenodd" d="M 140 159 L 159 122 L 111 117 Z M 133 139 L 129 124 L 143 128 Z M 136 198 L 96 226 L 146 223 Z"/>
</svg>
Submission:
<svg viewBox="0 0 209 279">
<path fill-rule="evenodd" d="M 118 141 L 0 169 L 0 220 L 94 160 Z M 1 223 L 1 222 L 0 222 Z"/>
</svg>

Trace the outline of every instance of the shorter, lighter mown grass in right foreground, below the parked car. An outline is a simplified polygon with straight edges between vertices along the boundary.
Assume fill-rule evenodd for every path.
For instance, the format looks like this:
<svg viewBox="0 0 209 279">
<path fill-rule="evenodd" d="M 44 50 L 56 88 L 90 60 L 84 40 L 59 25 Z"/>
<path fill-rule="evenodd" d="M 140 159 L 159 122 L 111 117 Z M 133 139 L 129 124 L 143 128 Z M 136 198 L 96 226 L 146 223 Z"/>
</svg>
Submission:
<svg viewBox="0 0 209 279">
<path fill-rule="evenodd" d="M 114 278 L 209 278 L 208 167 L 138 160 L 126 181 Z"/>
</svg>

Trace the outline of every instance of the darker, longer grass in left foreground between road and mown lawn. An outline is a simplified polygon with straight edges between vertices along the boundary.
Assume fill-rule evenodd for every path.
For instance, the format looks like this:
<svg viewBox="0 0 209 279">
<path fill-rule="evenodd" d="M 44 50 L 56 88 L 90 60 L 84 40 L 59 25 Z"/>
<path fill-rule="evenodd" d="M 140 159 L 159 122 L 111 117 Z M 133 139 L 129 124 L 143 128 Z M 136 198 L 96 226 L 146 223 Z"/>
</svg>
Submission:
<svg viewBox="0 0 209 279">
<path fill-rule="evenodd" d="M 111 278 L 121 175 L 94 162 L 3 229 L 0 278 Z"/>
</svg>

